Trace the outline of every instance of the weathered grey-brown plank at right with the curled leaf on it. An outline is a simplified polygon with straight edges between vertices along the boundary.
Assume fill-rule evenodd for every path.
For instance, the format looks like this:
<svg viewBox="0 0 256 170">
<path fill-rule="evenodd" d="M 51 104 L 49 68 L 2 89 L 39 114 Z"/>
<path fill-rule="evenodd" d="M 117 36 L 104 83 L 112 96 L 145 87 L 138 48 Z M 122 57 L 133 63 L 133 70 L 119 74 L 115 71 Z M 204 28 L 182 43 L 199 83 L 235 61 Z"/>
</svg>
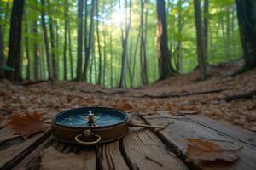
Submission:
<svg viewBox="0 0 256 170">
<path fill-rule="evenodd" d="M 143 118 L 154 125 L 171 123 L 157 136 L 174 150 L 183 161 L 188 146 L 187 139 L 206 139 L 228 150 L 237 150 L 239 159 L 232 163 L 224 161 L 198 162 L 191 167 L 200 169 L 256 169 L 256 134 L 239 127 L 213 121 L 205 116 L 172 116 L 165 112 L 144 115 Z M 238 150 L 239 149 L 239 150 Z"/>
</svg>

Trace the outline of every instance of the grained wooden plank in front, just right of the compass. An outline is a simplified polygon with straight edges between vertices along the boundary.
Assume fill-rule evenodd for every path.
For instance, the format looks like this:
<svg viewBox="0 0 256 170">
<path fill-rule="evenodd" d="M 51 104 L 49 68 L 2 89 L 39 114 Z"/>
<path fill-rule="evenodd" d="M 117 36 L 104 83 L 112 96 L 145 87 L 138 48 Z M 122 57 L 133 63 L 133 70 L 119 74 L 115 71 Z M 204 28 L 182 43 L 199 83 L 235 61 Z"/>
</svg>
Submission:
<svg viewBox="0 0 256 170">
<path fill-rule="evenodd" d="M 131 128 L 130 134 L 123 139 L 121 149 L 131 169 L 187 169 L 154 133 L 145 128 Z"/>
</svg>

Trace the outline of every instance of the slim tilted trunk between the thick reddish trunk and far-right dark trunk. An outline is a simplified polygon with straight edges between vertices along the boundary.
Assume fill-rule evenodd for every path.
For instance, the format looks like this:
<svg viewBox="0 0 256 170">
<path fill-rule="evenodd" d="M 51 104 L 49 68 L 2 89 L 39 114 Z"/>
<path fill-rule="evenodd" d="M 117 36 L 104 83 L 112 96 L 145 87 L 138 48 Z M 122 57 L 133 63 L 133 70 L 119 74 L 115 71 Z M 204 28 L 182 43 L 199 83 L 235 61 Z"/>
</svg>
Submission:
<svg viewBox="0 0 256 170">
<path fill-rule="evenodd" d="M 200 8 L 199 0 L 194 0 L 194 6 L 195 6 L 195 26 L 196 26 L 196 38 L 197 38 L 198 63 L 199 63 L 201 80 L 205 80 L 207 77 L 207 67 L 205 62 L 205 48 L 204 48 L 203 30 L 201 25 L 201 8 Z"/>
</svg>

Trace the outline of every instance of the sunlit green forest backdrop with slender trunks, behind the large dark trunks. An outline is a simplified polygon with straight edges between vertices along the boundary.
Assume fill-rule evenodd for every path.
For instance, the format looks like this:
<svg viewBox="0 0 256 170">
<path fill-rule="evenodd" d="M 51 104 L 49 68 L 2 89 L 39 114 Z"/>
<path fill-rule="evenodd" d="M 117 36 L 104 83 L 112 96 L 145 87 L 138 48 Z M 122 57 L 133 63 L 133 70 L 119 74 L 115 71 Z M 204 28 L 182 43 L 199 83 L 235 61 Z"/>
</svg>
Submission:
<svg viewBox="0 0 256 170">
<path fill-rule="evenodd" d="M 21 14 L 20 49 L 9 52 L 19 43 L 19 31 L 12 31 L 10 24 L 14 11 Z M 159 34 L 163 31 L 165 36 L 165 25 L 162 42 Z M 163 63 L 172 72 L 197 68 L 198 34 L 203 36 L 206 65 L 240 59 L 235 0 L 0 1 L 0 66 L 10 74 L 18 72 L 19 81 L 76 80 L 137 87 L 161 78 L 159 42 L 171 56 Z M 20 59 L 12 67 L 8 58 L 15 55 Z"/>
</svg>

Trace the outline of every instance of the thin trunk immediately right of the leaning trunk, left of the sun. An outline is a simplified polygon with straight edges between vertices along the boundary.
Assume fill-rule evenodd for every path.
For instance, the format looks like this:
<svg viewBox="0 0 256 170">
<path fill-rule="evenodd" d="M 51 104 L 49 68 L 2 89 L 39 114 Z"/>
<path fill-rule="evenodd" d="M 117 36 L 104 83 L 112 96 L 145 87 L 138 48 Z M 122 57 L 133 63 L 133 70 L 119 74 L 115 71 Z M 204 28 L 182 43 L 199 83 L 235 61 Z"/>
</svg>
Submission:
<svg viewBox="0 0 256 170">
<path fill-rule="evenodd" d="M 100 42 L 100 31 L 99 31 L 99 1 L 96 0 L 96 15 L 97 15 L 97 42 L 98 42 L 98 53 L 99 53 L 99 72 L 98 72 L 98 82 L 97 84 L 101 84 L 102 82 L 102 50 L 101 50 L 101 42 Z"/>
</svg>

